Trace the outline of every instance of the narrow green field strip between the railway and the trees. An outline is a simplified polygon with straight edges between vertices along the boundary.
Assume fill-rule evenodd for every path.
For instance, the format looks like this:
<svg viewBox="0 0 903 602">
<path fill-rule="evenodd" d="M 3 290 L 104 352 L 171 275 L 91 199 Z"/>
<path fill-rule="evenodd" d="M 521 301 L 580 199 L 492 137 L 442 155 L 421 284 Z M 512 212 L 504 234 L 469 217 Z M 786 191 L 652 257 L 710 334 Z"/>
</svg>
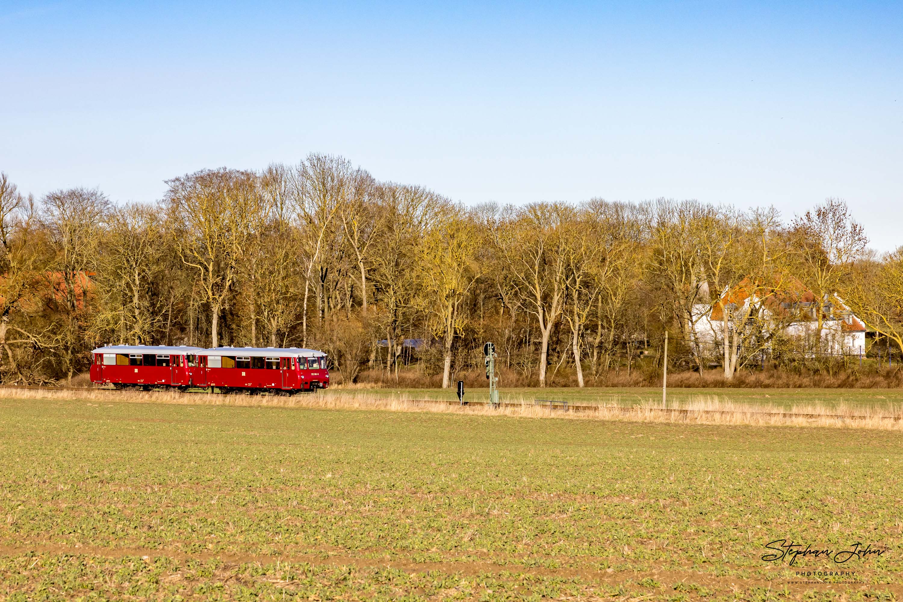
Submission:
<svg viewBox="0 0 903 602">
<path fill-rule="evenodd" d="M 345 389 L 327 389 L 320 394 L 340 394 Z M 360 393 L 382 397 L 404 395 L 410 399 L 441 399 L 457 401 L 458 395 L 452 389 L 351 389 Z M 668 403 L 686 403 L 699 398 L 718 398 L 734 403 L 768 405 L 789 410 L 795 405 L 817 403 L 826 407 L 837 404 L 861 405 L 874 408 L 903 407 L 903 389 L 731 389 L 731 388 L 669 388 Z M 470 388 L 464 394 L 465 401 L 486 402 L 489 389 Z M 505 401 L 551 399 L 570 403 L 636 405 L 661 403 L 662 390 L 654 387 L 549 387 L 499 389 L 499 399 Z"/>
</svg>

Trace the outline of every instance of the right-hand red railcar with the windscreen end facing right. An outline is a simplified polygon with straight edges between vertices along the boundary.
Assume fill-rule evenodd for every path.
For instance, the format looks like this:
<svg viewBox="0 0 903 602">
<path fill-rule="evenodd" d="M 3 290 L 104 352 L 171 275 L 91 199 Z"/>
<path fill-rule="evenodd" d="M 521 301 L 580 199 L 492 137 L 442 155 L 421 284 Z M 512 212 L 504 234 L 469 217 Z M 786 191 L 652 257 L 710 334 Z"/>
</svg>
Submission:
<svg viewBox="0 0 903 602">
<path fill-rule="evenodd" d="M 326 354 L 298 347 L 213 347 L 198 353 L 206 385 L 221 391 L 315 391 L 330 385 Z M 200 382 L 195 381 L 195 384 Z"/>
</svg>

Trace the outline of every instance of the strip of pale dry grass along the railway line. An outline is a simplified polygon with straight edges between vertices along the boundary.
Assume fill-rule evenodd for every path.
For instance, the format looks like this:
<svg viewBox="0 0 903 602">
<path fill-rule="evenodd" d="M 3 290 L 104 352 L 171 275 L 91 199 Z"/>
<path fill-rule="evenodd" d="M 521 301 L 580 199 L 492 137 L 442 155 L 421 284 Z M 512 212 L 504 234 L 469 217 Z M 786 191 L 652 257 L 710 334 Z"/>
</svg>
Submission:
<svg viewBox="0 0 903 602">
<path fill-rule="evenodd" d="M 609 421 L 672 422 L 692 424 L 738 424 L 759 426 L 797 426 L 903 430 L 903 406 L 892 404 L 870 408 L 861 404 L 796 404 L 789 410 L 768 403 L 736 403 L 719 395 L 694 395 L 680 403 L 600 405 L 598 409 L 563 412 L 536 405 L 532 399 L 507 399 L 502 408 L 482 404 L 460 406 L 412 399 L 405 394 L 377 396 L 354 389 L 333 389 L 319 394 L 296 396 L 241 394 L 182 394 L 178 392 L 123 392 L 108 390 L 47 391 L 5 389 L 3 397 L 14 399 L 70 400 L 110 403 L 176 403 L 186 405 L 234 405 L 256 407 L 297 407 L 330 410 L 383 410 L 387 412 L 445 412 L 522 418 L 567 418 Z M 582 406 L 585 408 L 586 406 Z"/>
</svg>

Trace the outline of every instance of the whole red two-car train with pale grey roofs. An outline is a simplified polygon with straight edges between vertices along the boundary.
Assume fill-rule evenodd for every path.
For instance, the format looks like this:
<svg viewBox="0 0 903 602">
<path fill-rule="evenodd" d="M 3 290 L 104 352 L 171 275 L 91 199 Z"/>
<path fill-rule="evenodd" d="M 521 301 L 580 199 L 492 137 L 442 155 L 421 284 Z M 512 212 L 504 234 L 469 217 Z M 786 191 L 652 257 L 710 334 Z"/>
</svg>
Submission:
<svg viewBox="0 0 903 602">
<path fill-rule="evenodd" d="M 117 389 L 294 394 L 330 385 L 326 354 L 316 349 L 114 345 L 92 353 L 91 382 Z"/>
</svg>

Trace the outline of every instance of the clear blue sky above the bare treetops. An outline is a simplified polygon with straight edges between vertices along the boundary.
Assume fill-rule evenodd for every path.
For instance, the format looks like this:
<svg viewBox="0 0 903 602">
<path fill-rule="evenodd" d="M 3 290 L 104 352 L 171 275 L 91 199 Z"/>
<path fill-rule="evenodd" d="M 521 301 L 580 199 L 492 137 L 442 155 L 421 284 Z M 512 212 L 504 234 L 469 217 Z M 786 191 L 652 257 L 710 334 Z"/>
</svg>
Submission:
<svg viewBox="0 0 903 602">
<path fill-rule="evenodd" d="M 339 153 L 465 203 L 846 199 L 903 245 L 903 3 L 0 0 L 0 170 L 159 198 Z"/>
</svg>

